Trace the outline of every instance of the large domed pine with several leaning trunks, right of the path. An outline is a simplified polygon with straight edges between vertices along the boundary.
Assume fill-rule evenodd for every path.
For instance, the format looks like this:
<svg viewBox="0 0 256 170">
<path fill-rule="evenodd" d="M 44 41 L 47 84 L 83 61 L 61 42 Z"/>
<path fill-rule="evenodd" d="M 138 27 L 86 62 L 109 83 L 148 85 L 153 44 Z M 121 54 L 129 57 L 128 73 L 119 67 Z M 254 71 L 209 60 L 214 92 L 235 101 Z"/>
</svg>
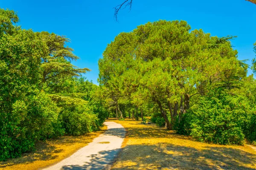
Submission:
<svg viewBox="0 0 256 170">
<path fill-rule="evenodd" d="M 100 85 L 155 102 L 172 129 L 178 102 L 181 117 L 195 94 L 203 95 L 213 86 L 233 88 L 246 76 L 230 38 L 190 31 L 185 21 L 138 26 L 119 34 L 104 51 L 99 60 Z"/>
</svg>

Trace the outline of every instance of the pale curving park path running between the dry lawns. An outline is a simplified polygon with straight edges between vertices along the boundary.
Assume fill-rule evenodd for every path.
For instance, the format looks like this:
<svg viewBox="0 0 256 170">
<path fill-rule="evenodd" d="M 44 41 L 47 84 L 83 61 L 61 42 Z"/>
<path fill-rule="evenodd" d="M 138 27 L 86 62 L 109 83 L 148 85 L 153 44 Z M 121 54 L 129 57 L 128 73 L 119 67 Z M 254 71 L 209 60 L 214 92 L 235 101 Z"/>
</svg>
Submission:
<svg viewBox="0 0 256 170">
<path fill-rule="evenodd" d="M 105 122 L 108 130 L 70 157 L 44 170 L 102 170 L 108 169 L 121 150 L 125 128 L 115 122 Z"/>
</svg>

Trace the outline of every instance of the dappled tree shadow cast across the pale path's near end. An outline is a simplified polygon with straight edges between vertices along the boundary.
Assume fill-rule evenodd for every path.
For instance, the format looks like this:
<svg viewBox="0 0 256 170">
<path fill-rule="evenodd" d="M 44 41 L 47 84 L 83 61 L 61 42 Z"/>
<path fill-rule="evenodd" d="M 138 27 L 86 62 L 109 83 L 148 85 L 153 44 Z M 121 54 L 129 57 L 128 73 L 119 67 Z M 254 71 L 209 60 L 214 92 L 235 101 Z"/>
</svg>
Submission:
<svg viewBox="0 0 256 170">
<path fill-rule="evenodd" d="M 68 165 L 63 166 L 61 170 L 102 170 L 113 163 L 114 157 L 121 149 L 105 150 L 98 154 L 93 154 L 90 157 L 91 162 L 84 162 L 83 165 Z"/>
</svg>

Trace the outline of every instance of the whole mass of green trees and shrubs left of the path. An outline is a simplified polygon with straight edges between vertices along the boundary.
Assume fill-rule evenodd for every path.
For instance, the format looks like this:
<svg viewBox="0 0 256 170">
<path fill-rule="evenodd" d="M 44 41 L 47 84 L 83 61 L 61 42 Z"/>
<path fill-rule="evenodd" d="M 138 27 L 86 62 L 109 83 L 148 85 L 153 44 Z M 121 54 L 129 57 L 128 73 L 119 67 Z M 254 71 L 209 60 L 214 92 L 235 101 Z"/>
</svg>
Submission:
<svg viewBox="0 0 256 170">
<path fill-rule="evenodd" d="M 102 127 L 107 110 L 98 86 L 71 62 L 64 36 L 17 26 L 0 9 L 0 161 L 33 150 L 38 140 Z"/>
</svg>

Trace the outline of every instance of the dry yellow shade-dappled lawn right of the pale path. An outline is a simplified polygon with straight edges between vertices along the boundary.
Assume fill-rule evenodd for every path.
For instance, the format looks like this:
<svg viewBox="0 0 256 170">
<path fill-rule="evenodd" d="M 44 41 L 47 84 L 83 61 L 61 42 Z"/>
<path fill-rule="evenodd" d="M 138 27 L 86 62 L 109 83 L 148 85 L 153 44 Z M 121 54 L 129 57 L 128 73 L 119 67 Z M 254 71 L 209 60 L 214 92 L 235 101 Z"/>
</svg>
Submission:
<svg viewBox="0 0 256 170">
<path fill-rule="evenodd" d="M 127 130 L 112 170 L 256 169 L 256 150 L 248 145 L 201 143 L 156 125 L 142 125 L 130 119 L 109 121 L 120 123 Z"/>
</svg>

